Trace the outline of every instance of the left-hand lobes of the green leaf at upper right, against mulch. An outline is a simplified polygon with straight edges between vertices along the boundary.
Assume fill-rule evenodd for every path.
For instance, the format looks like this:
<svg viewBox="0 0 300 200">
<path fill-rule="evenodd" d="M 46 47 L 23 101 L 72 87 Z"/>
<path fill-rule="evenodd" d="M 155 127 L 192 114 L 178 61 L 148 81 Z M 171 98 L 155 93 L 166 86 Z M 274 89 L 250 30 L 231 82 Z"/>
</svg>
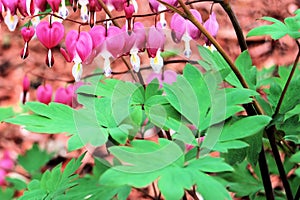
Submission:
<svg viewBox="0 0 300 200">
<path fill-rule="evenodd" d="M 281 21 L 272 17 L 262 17 L 261 19 L 273 22 L 273 24 L 256 27 L 248 32 L 247 37 L 270 35 L 272 39 L 277 40 L 288 33 L 288 28 Z"/>
</svg>

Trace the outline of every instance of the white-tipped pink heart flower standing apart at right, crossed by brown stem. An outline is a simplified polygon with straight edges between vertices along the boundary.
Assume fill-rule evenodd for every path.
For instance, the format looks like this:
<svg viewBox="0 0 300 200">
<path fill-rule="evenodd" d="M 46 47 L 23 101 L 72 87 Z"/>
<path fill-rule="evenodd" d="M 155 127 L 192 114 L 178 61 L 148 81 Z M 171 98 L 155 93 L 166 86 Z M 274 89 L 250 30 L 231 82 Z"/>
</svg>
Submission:
<svg viewBox="0 0 300 200">
<path fill-rule="evenodd" d="M 202 23 L 202 17 L 200 13 L 195 9 L 191 9 L 190 11 L 192 15 L 198 20 L 198 22 Z M 200 37 L 200 30 L 192 22 L 184 19 L 177 13 L 172 16 L 170 26 L 172 29 L 172 38 L 174 42 L 178 43 L 181 40 L 184 41 L 184 55 L 189 58 L 192 54 L 190 41 L 192 39 L 196 40 Z"/>
</svg>

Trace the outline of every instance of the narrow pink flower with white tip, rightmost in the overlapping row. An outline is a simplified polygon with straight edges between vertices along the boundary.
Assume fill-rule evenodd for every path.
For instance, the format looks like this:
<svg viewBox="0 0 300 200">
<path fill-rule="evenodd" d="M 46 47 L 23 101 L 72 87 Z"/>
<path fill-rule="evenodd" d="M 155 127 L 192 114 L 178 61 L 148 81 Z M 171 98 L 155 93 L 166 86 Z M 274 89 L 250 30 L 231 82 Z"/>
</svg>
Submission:
<svg viewBox="0 0 300 200">
<path fill-rule="evenodd" d="M 159 73 L 164 65 L 164 60 L 160 53 L 164 50 L 164 44 L 166 42 L 166 36 L 160 26 L 157 24 L 151 26 L 147 38 L 147 52 L 150 56 L 150 65 L 154 72 Z"/>
</svg>

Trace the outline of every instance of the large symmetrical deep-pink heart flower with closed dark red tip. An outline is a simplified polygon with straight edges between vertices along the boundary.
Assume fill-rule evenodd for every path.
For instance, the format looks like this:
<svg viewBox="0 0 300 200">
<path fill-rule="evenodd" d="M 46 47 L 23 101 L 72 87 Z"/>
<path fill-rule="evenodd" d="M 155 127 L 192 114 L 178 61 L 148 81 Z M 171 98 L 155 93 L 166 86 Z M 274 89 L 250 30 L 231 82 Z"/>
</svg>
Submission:
<svg viewBox="0 0 300 200">
<path fill-rule="evenodd" d="M 52 67 L 54 58 L 51 49 L 54 48 L 64 37 L 64 26 L 59 22 L 50 24 L 48 21 L 42 21 L 36 27 L 36 36 L 39 41 L 48 48 L 46 64 Z"/>
</svg>

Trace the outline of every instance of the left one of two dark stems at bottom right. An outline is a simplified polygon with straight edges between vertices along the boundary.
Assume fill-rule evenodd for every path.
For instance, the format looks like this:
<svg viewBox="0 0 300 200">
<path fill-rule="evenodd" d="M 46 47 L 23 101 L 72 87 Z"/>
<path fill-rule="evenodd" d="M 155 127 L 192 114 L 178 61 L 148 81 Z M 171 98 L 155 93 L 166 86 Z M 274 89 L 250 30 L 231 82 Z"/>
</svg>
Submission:
<svg viewBox="0 0 300 200">
<path fill-rule="evenodd" d="M 259 162 L 261 179 L 263 181 L 263 185 L 264 185 L 264 189 L 265 189 L 265 193 L 266 193 L 266 199 L 274 200 L 275 198 L 274 198 L 272 183 L 270 180 L 268 163 L 267 163 L 266 155 L 265 155 L 263 148 L 259 153 L 258 162 Z"/>
</svg>

